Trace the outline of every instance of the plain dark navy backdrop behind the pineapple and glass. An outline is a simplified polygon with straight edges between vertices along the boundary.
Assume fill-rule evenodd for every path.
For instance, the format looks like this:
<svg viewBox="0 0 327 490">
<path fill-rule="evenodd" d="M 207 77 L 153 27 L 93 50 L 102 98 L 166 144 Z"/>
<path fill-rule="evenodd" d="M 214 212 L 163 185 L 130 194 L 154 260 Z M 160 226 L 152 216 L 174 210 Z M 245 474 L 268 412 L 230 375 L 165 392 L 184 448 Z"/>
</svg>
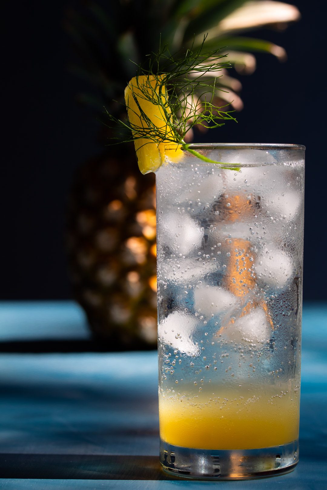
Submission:
<svg viewBox="0 0 327 490">
<path fill-rule="evenodd" d="M 318 0 L 293 3 L 302 12 L 300 22 L 285 32 L 250 34 L 285 47 L 288 61 L 258 55 L 256 72 L 240 77 L 245 108 L 238 124 L 205 138 L 306 145 L 304 298 L 326 299 L 326 18 Z M 5 299 L 70 296 L 63 240 L 67 194 L 78 165 L 101 151 L 97 122 L 74 100 L 81 82 L 67 71 L 66 5 L 12 1 L 1 9 Z"/>
</svg>

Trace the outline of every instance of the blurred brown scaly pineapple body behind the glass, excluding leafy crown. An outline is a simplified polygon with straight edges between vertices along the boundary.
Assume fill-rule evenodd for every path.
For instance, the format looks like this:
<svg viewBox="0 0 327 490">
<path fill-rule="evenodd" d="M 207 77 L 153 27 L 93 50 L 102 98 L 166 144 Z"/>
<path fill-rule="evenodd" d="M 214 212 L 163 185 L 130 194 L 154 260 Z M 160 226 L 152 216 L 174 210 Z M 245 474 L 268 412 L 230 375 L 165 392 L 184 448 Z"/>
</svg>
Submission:
<svg viewBox="0 0 327 490">
<path fill-rule="evenodd" d="M 133 145 L 77 170 L 66 248 L 73 295 L 101 349 L 156 348 L 154 174 L 138 171 Z"/>
</svg>

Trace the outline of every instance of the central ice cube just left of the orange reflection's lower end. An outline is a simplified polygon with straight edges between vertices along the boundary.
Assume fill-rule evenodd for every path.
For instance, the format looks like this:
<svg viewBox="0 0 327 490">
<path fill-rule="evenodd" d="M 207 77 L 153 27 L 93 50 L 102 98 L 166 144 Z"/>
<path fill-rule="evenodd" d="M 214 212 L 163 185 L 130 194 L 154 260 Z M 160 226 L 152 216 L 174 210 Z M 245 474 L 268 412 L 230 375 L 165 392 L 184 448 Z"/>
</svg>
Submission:
<svg viewBox="0 0 327 490">
<path fill-rule="evenodd" d="M 226 289 L 217 286 L 201 285 L 194 290 L 194 308 L 206 317 L 226 312 L 235 306 L 237 299 Z"/>
</svg>

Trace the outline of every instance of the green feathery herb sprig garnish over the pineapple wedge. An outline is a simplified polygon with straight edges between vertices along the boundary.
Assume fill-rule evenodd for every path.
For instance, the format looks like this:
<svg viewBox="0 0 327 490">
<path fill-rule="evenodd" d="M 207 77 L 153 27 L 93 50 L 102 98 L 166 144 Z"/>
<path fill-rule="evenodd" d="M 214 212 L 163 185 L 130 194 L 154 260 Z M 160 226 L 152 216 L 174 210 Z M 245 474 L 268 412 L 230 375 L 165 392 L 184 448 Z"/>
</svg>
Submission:
<svg viewBox="0 0 327 490">
<path fill-rule="evenodd" d="M 203 43 L 204 41 L 205 38 Z M 236 121 L 231 115 L 233 111 L 224 111 L 226 106 L 219 107 L 214 103 L 218 91 L 221 90 L 216 88 L 216 79 L 222 76 L 219 72 L 224 68 L 230 68 L 228 62 L 221 61 L 227 55 L 219 54 L 219 50 L 202 52 L 203 43 L 194 51 L 193 47 L 188 49 L 182 57 L 178 57 L 178 53 L 172 55 L 167 46 L 159 49 L 157 53 L 152 52 L 148 55 L 147 68 L 139 66 L 135 78 L 137 97 L 132 93 L 139 110 L 137 116 L 140 117 L 140 125 L 117 119 L 106 111 L 109 120 L 115 123 L 114 127 L 109 127 L 116 130 L 116 136 L 112 138 L 119 140 L 116 144 L 140 138 L 158 144 L 163 141 L 177 143 L 201 160 L 225 165 L 223 162 L 205 158 L 185 143 L 186 134 L 196 125 L 211 129 L 222 126 L 223 120 Z M 139 77 L 142 75 L 152 75 L 155 80 L 153 86 L 140 82 Z M 165 123 L 158 126 L 151 121 L 142 109 L 139 99 L 158 105 Z M 131 110 L 128 101 L 127 109 Z M 142 125 L 142 121 L 146 124 Z M 227 168 L 239 170 L 239 167 Z"/>
</svg>

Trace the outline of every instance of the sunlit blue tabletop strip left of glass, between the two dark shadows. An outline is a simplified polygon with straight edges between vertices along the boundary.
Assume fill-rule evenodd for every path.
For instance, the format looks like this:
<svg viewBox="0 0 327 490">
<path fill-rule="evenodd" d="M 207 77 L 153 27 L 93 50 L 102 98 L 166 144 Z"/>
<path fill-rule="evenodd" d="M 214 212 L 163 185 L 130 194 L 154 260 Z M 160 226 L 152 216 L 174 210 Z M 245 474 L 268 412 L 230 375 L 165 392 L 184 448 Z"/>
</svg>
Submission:
<svg viewBox="0 0 327 490">
<path fill-rule="evenodd" d="M 0 452 L 157 454 L 157 356 L 0 356 Z"/>
</svg>

